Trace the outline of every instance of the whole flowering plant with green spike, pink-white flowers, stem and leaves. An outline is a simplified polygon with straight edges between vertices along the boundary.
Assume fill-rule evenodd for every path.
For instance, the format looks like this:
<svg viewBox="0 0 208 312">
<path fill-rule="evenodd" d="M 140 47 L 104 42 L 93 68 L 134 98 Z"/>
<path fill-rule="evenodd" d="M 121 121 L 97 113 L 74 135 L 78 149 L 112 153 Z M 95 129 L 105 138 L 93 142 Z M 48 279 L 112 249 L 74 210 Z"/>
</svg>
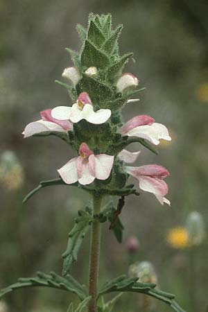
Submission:
<svg viewBox="0 0 208 312">
<path fill-rule="evenodd" d="M 165 125 L 155 122 L 150 116 L 138 115 L 123 122 L 123 107 L 139 101 L 132 96 L 143 89 L 138 88 L 135 76 L 122 73 L 132 53 L 119 54 L 121 29 L 121 25 L 112 29 L 110 14 L 90 14 L 87 28 L 77 26 L 83 46 L 79 53 L 67 49 L 73 67 L 64 69 L 62 73 L 67 83 L 58 81 L 67 88 L 73 105 L 42 111 L 41 119 L 29 123 L 23 132 L 24 137 L 55 135 L 78 154 L 58 169 L 58 178 L 40 182 L 24 202 L 40 189 L 58 184 L 78 187 L 92 195 L 92 207 L 78 212 L 76 223 L 69 233 L 67 250 L 62 254 L 63 276 L 54 272 L 50 275 L 38 272 L 36 278 L 20 279 L 17 284 L 5 288 L 0 296 L 19 287 L 47 286 L 76 293 L 81 301 L 75 310 L 77 312 L 83 311 L 85 307 L 88 307 L 89 312 L 110 312 L 115 300 L 105 302 L 103 295 L 127 291 L 145 293 L 166 302 L 175 311 L 182 311 L 174 301 L 174 295 L 159 291 L 155 284 L 141 283 L 137 277 L 121 275 L 108 281 L 98 291 L 101 223 L 110 222 L 110 229 L 121 241 L 123 225 L 119 214 L 125 204 L 125 196 L 139 195 L 135 185 L 129 184 L 130 175 L 139 181 L 139 189 L 153 193 L 162 205 L 170 205 L 165 197 L 168 186 L 164 178 L 169 175 L 166 168 L 156 164 L 127 166 L 135 162 L 140 153 L 126 150 L 130 144 L 138 142 L 157 153 L 153 145 L 158 145 L 160 139 L 170 141 L 171 137 Z M 107 202 L 101 209 L 103 198 L 107 196 L 119 196 L 117 207 L 114 207 L 113 202 Z M 71 276 L 71 266 L 77 259 L 78 250 L 89 229 L 92 239 L 87 291 Z M 70 304 L 68 311 L 74 311 L 73 304 Z"/>
</svg>

